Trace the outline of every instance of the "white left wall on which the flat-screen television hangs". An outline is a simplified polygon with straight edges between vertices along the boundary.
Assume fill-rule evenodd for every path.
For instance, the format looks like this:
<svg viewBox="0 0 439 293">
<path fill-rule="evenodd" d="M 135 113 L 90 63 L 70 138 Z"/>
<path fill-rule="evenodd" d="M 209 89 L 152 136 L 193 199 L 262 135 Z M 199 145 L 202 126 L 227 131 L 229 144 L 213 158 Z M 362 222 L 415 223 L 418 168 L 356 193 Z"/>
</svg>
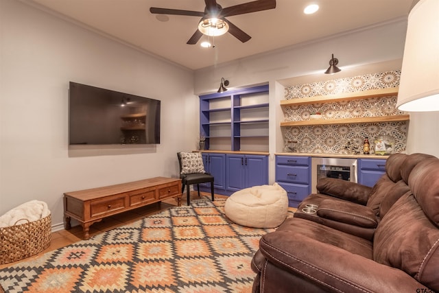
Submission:
<svg viewBox="0 0 439 293">
<path fill-rule="evenodd" d="M 176 152 L 198 140 L 192 71 L 20 1 L 0 5 L 0 215 L 38 199 L 57 225 L 64 192 L 178 177 Z M 161 144 L 69 156 L 69 81 L 161 99 Z"/>
</svg>

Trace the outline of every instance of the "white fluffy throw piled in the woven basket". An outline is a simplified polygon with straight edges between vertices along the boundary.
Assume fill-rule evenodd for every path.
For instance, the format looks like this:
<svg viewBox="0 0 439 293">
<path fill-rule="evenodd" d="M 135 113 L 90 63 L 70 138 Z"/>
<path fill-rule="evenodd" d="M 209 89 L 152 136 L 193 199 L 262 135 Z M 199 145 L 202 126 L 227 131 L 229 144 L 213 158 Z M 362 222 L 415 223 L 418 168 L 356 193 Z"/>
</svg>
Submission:
<svg viewBox="0 0 439 293">
<path fill-rule="evenodd" d="M 11 209 L 0 217 L 0 227 L 8 227 L 25 224 L 27 221 L 34 222 L 47 217 L 50 214 L 45 202 L 31 200 Z"/>
</svg>

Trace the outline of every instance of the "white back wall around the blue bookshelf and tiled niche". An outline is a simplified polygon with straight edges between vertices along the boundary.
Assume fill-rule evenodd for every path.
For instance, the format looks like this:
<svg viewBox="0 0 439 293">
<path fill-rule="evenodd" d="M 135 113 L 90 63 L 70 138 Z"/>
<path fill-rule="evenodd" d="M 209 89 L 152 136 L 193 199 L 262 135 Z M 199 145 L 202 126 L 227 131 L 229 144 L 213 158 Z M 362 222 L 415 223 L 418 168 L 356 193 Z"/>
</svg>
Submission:
<svg viewBox="0 0 439 293">
<path fill-rule="evenodd" d="M 283 113 L 279 102 L 284 99 L 285 86 L 401 69 L 406 28 L 406 19 L 394 19 L 294 47 L 200 69 L 195 71 L 195 93 L 215 92 L 221 78 L 230 81 L 228 89 L 269 82 L 269 180 L 273 183 L 274 153 L 281 152 L 283 147 L 279 126 Z M 217 46 L 215 49 L 222 48 Z M 342 69 L 337 75 L 324 74 L 329 67 L 331 54 L 339 59 L 339 67 Z M 436 147 L 439 137 L 431 135 L 437 132 L 438 122 L 439 113 L 412 114 L 406 152 L 425 152 L 439 156 L 439 148 Z"/>
</svg>

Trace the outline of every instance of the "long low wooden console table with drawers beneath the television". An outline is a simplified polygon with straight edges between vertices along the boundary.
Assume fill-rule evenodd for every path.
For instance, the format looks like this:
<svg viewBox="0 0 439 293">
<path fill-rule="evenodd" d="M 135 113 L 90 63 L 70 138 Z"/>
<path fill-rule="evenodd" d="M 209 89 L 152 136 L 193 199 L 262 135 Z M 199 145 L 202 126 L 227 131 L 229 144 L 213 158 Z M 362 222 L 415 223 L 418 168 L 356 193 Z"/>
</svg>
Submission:
<svg viewBox="0 0 439 293">
<path fill-rule="evenodd" d="M 64 227 L 71 228 L 71 218 L 78 220 L 84 239 L 90 237 L 91 224 L 110 215 L 137 209 L 147 204 L 176 198 L 181 205 L 181 180 L 155 177 L 106 187 L 66 192 L 64 194 Z"/>
</svg>

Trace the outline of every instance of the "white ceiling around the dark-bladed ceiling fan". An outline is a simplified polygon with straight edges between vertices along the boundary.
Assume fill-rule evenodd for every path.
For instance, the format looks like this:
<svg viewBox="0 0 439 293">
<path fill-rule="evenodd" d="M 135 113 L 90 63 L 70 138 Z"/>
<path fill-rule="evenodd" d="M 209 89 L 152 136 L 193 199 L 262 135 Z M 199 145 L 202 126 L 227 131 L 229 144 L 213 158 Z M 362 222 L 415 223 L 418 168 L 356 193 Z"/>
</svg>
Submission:
<svg viewBox="0 0 439 293">
<path fill-rule="evenodd" d="M 203 0 L 24 1 L 45 10 L 48 8 L 96 32 L 183 67 L 200 69 L 405 18 L 417 0 L 277 0 L 274 10 L 227 17 L 252 38 L 241 43 L 230 34 L 217 36 L 214 48 L 202 48 L 200 41 L 197 45 L 186 44 L 195 32 L 200 17 L 169 15 L 169 20 L 163 22 L 156 18 L 157 14 L 150 13 L 150 7 L 202 12 Z M 217 0 L 223 8 L 249 1 Z M 320 10 L 312 15 L 303 14 L 309 3 L 318 3 Z"/>
</svg>

